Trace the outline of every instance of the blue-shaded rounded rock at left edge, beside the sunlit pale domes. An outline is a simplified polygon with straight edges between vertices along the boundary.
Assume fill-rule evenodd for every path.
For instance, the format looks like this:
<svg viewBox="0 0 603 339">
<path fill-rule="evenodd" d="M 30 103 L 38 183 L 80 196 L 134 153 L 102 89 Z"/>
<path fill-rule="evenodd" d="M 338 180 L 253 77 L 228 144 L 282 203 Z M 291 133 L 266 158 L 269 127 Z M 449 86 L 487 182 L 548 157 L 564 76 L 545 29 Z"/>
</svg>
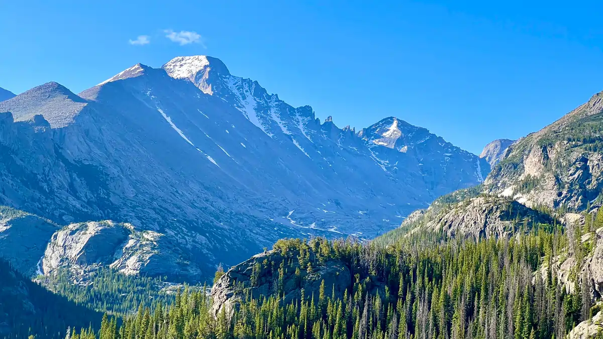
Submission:
<svg viewBox="0 0 603 339">
<path fill-rule="evenodd" d="M 0 206 L 0 256 L 16 270 L 32 276 L 58 226 L 49 220 Z"/>
</svg>

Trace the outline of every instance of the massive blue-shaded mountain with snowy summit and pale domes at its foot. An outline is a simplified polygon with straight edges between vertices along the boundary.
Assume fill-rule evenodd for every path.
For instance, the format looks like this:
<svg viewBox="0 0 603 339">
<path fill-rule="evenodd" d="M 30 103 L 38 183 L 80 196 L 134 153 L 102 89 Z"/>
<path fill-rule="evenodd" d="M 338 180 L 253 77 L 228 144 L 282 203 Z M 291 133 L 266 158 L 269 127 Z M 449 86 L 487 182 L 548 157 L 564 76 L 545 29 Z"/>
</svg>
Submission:
<svg viewBox="0 0 603 339">
<path fill-rule="evenodd" d="M 358 133 L 321 122 L 204 56 L 137 64 L 79 95 L 43 84 L 0 112 L 0 204 L 68 225 L 44 271 L 196 282 L 279 238 L 378 235 L 490 170 L 398 118 Z"/>
</svg>

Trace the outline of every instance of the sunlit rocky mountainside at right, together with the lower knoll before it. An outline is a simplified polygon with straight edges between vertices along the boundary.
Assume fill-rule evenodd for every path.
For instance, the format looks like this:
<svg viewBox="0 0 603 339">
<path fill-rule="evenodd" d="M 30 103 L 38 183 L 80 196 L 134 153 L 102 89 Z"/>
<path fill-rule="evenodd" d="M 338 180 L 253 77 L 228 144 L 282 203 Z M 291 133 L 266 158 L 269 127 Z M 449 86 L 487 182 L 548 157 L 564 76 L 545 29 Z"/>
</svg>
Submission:
<svg viewBox="0 0 603 339">
<path fill-rule="evenodd" d="M 438 198 L 377 242 L 419 229 L 507 238 L 523 221 L 531 227 L 556 222 L 552 216 L 566 227 L 584 223 L 585 217 L 567 212 L 586 213 L 603 203 L 602 132 L 603 92 L 540 131 L 491 142 L 480 155 L 492 164 L 483 185 Z"/>
</svg>

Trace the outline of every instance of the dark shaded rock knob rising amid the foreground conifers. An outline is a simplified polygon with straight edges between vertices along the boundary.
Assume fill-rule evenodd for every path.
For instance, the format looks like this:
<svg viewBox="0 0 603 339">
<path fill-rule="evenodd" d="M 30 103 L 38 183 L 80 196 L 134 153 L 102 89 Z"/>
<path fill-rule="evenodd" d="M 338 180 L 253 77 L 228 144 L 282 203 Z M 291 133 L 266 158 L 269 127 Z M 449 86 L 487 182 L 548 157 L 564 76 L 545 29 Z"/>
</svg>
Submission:
<svg viewBox="0 0 603 339">
<path fill-rule="evenodd" d="M 268 264 L 270 262 L 274 262 L 274 265 Z M 300 268 L 297 259 L 291 262 L 291 258 L 272 250 L 233 266 L 213 285 L 213 314 L 218 314 L 224 308 L 229 312 L 237 307 L 244 298 L 243 288 L 249 288 L 250 293 L 255 297 L 276 295 L 279 289 L 281 263 L 285 267 L 281 290 L 285 303 L 301 299 L 302 293 L 305 299 L 312 298 L 312 295 L 318 298 L 323 280 L 326 296 L 333 293 L 334 287 L 336 296 L 342 297 L 352 286 L 352 273 L 344 262 L 327 260 L 323 264 L 316 265 L 308 273 L 306 268 Z M 296 269 L 300 270 L 300 276 L 296 276 Z"/>
</svg>

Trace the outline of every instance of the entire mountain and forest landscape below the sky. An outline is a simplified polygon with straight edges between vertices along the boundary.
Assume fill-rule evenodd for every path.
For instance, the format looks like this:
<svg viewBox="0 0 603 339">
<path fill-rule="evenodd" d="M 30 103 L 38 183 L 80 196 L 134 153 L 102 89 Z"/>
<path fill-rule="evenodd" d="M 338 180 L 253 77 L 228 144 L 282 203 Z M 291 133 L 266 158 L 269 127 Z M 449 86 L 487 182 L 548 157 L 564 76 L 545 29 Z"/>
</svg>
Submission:
<svg viewBox="0 0 603 339">
<path fill-rule="evenodd" d="M 7 95 L 0 337 L 601 338 L 601 98 L 476 156 L 203 55 Z"/>
</svg>

